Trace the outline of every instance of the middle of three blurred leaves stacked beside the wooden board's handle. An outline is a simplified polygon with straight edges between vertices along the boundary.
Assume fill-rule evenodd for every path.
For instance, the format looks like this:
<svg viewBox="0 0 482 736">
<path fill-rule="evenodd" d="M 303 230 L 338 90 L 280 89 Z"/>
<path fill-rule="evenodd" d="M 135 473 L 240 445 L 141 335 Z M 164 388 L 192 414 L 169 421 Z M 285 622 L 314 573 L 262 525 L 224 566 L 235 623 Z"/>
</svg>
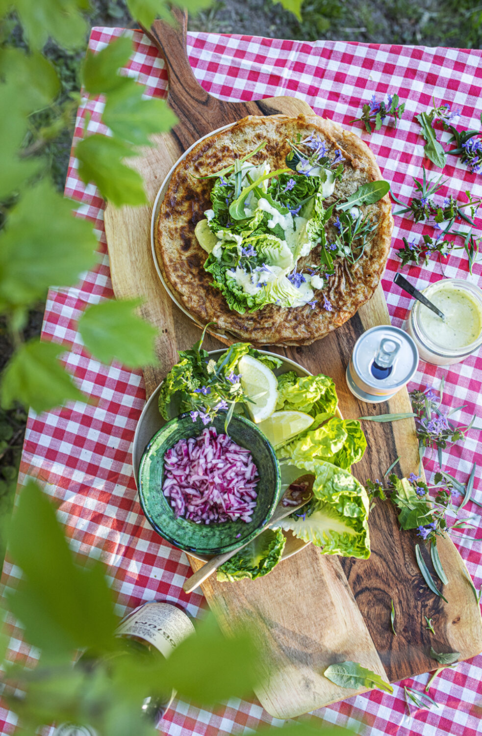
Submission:
<svg viewBox="0 0 482 736">
<path fill-rule="evenodd" d="M 143 99 L 144 88 L 134 79 L 107 95 L 102 121 L 113 134 L 136 146 L 149 145 L 149 135 L 169 130 L 177 118 L 166 100 Z"/>
</svg>

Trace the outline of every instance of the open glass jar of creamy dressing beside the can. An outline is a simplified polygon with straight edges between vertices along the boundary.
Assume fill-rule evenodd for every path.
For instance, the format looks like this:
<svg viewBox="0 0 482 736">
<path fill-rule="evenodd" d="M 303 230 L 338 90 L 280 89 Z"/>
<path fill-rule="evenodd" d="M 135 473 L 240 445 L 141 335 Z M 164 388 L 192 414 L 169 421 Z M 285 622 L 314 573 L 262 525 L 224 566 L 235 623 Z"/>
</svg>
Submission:
<svg viewBox="0 0 482 736">
<path fill-rule="evenodd" d="M 417 343 L 422 361 L 438 366 L 460 363 L 482 345 L 482 289 L 468 281 L 446 278 L 423 292 L 443 312 L 441 319 L 415 302 L 403 324 Z"/>
</svg>

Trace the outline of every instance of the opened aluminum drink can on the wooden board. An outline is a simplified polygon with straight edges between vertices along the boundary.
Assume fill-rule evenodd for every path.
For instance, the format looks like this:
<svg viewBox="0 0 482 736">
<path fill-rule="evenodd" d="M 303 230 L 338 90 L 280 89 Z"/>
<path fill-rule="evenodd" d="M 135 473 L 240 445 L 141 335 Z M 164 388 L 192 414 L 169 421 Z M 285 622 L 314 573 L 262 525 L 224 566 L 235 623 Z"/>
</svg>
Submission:
<svg viewBox="0 0 482 736">
<path fill-rule="evenodd" d="M 388 401 L 410 381 L 418 364 L 419 351 L 410 335 L 391 325 L 372 327 L 353 348 L 348 388 L 368 403 Z"/>
</svg>

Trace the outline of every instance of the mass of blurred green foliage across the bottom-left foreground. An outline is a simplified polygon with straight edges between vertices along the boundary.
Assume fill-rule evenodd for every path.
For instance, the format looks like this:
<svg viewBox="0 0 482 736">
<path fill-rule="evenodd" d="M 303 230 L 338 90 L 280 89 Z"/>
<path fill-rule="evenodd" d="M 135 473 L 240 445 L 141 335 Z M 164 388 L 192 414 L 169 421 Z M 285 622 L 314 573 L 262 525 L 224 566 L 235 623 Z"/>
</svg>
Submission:
<svg viewBox="0 0 482 736">
<path fill-rule="evenodd" d="M 174 687 L 179 697 L 213 707 L 230 696 L 250 696 L 259 684 L 260 648 L 244 631 L 222 637 L 211 615 L 169 659 L 146 658 L 135 650 L 116 657 L 118 620 L 102 562 L 79 565 L 74 560 L 54 508 L 35 481 L 29 480 L 19 495 L 9 552 L 23 577 L 8 593 L 8 604 L 26 640 L 41 650 L 38 665 L 23 668 L 5 661 L 7 639 L 1 638 L 3 696 L 26 732 L 69 721 L 89 724 L 102 736 L 154 736 L 157 731 L 141 715 L 149 694 L 162 698 Z M 96 668 L 72 665 L 79 648 L 99 657 Z M 24 697 L 18 697 L 16 687 Z M 346 733 L 351 732 L 296 724 L 283 736 Z"/>
</svg>

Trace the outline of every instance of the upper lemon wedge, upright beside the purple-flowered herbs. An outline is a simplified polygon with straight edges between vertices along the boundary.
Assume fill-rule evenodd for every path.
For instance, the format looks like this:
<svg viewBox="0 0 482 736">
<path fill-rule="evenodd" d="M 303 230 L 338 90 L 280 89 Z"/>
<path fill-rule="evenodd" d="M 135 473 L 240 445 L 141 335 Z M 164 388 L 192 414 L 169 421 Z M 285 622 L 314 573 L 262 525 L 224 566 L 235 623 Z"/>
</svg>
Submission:
<svg viewBox="0 0 482 736">
<path fill-rule="evenodd" d="M 238 373 L 241 374 L 241 388 L 251 399 L 246 406 L 253 422 L 268 419 L 276 408 L 278 382 L 276 376 L 264 363 L 243 355 L 238 362 Z"/>
</svg>

